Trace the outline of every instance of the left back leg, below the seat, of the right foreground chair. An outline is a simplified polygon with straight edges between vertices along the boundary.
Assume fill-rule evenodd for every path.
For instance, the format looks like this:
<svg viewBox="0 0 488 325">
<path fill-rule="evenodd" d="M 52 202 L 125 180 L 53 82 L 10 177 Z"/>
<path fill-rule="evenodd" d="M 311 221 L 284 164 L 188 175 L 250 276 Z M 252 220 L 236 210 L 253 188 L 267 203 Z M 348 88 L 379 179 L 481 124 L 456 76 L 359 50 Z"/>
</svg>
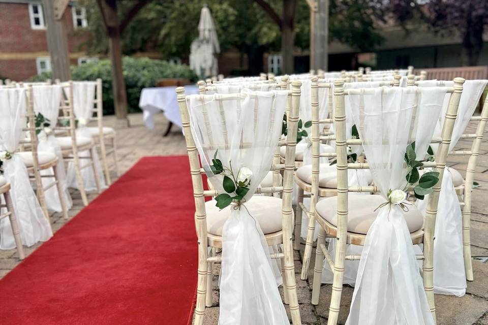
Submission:
<svg viewBox="0 0 488 325">
<path fill-rule="evenodd" d="M 332 282 L 332 296 L 330 297 L 329 316 L 327 325 L 336 325 L 341 307 L 342 284 L 344 281 L 344 256 L 346 256 L 346 235 L 337 240 L 335 247 L 334 279 Z M 334 240 L 334 239 L 332 239 Z"/>
</svg>

